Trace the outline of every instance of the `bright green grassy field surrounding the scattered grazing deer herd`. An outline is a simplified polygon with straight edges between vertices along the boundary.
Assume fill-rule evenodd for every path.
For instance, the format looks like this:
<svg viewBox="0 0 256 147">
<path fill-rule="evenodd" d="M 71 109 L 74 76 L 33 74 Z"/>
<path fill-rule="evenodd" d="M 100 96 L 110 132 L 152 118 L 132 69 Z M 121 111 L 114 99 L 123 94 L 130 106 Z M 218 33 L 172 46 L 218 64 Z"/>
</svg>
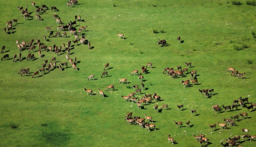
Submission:
<svg viewBox="0 0 256 147">
<path fill-rule="evenodd" d="M 57 0 L 35 1 L 36 6 L 45 4 L 49 8 L 56 6 L 59 11 L 51 9 L 40 14 L 43 21 L 35 19 L 35 9 L 25 0 L 14 0 L 12 3 L 0 1 L 2 9 L 0 24 L 20 18 L 13 25 L 13 32 L 0 36 L 0 45 L 6 46 L 10 60 L 0 62 L 0 146 L 167 146 L 167 137 L 175 140 L 175 146 L 199 146 L 193 134 L 204 134 L 208 138 L 206 146 L 221 146 L 225 139 L 247 134 L 241 129 L 247 128 L 248 134 L 255 135 L 255 111 L 248 112 L 248 119 L 236 121 L 236 126 L 228 129 L 211 131 L 208 124 L 224 123 L 223 118 L 230 118 L 239 113 L 247 112 L 247 108 L 227 110 L 215 114 L 212 105 L 232 105 L 239 97 L 249 98 L 255 103 L 255 38 L 256 14 L 255 7 L 233 5 L 232 1 L 223 0 L 97 0 L 79 1 L 72 8 L 66 2 Z M 28 6 L 32 12 L 29 20 L 21 18 L 17 6 Z M 61 17 L 64 24 L 81 16 L 76 29 L 88 26 L 82 32 L 88 45 L 71 45 L 70 58 L 77 58 L 73 70 L 58 68 L 39 77 L 31 78 L 32 74 L 42 68 L 44 60 L 48 62 L 56 57 L 57 66 L 60 62 L 68 62 L 66 53 L 57 56 L 54 52 L 42 52 L 34 61 L 22 60 L 12 62 L 12 56 L 20 53 L 15 41 L 30 42 L 40 39 L 46 46 L 62 46 L 67 41 L 75 40 L 74 35 L 68 38 L 51 37 L 45 27 L 52 25 L 54 34 L 57 32 L 56 21 L 52 15 Z M 59 24 L 60 25 L 60 24 Z M 154 33 L 155 30 L 158 33 Z M 61 32 L 61 31 L 60 31 Z M 119 39 L 116 32 L 124 34 Z M 62 33 L 62 32 L 61 32 Z M 79 38 L 82 37 L 79 36 Z M 43 36 L 47 36 L 44 42 Z M 178 43 L 177 37 L 182 43 Z M 157 46 L 158 39 L 165 39 L 167 45 Z M 35 41 L 34 41 L 35 43 Z M 35 45 L 36 46 L 36 45 Z M 238 46 L 238 50 L 234 49 Z M 25 58 L 28 50 L 23 50 Z M 143 74 L 145 89 L 136 94 L 141 99 L 144 94 L 161 96 L 161 101 L 142 105 L 138 110 L 136 103 L 124 101 L 121 97 L 134 92 L 132 84 L 141 85 L 138 76 L 130 75 L 133 70 L 140 70 L 151 62 L 153 68 Z M 196 70 L 198 85 L 184 88 L 181 80 L 190 79 L 190 74 L 170 79 L 163 74 L 165 67 L 182 66 L 184 62 L 192 62 L 188 71 Z M 109 63 L 108 77 L 101 78 L 103 68 Z M 20 68 L 30 68 L 28 76 L 18 74 Z M 246 73 L 241 79 L 230 76 L 226 71 L 234 67 L 239 73 Z M 88 81 L 89 75 L 95 74 L 95 80 Z M 119 83 L 119 79 L 127 78 L 128 84 Z M 106 91 L 108 85 L 115 86 L 114 91 Z M 93 95 L 87 95 L 84 88 L 92 89 Z M 104 91 L 100 97 L 98 88 Z M 214 88 L 214 95 L 204 99 L 198 89 Z M 168 110 L 155 113 L 154 105 L 161 107 L 168 104 Z M 177 105 L 183 104 L 184 110 L 178 111 Z M 248 106 L 248 104 L 247 104 Z M 190 108 L 196 109 L 197 115 L 191 116 Z M 124 116 L 132 112 L 133 116 L 144 118 L 144 114 L 153 117 L 156 130 L 150 132 L 136 125 L 128 125 Z M 241 119 L 241 117 L 239 117 Z M 182 121 L 184 127 L 176 128 L 174 121 Z M 185 122 L 190 121 L 191 127 Z M 14 128 L 14 129 L 12 129 Z M 242 141 L 242 146 L 255 146 L 255 139 Z"/>
</svg>

